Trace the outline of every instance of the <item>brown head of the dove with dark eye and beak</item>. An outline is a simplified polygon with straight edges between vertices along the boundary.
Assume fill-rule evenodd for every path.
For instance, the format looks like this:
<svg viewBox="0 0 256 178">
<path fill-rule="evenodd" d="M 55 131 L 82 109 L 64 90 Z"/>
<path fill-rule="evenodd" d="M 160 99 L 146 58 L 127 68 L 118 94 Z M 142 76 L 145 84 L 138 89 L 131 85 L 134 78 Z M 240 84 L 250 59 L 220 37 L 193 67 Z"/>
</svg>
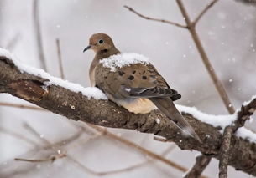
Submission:
<svg viewBox="0 0 256 178">
<path fill-rule="evenodd" d="M 89 45 L 84 49 L 85 52 L 92 49 L 95 53 L 106 53 L 109 50 L 115 49 L 112 39 L 105 33 L 95 33 L 89 39 Z"/>
</svg>

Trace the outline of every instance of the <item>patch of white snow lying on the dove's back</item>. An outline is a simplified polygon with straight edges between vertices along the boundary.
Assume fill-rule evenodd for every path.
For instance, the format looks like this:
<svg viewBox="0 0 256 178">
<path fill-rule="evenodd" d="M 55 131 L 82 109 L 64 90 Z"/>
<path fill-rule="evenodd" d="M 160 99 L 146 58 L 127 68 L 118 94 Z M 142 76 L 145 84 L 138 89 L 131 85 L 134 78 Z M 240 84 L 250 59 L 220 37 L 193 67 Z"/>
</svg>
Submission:
<svg viewBox="0 0 256 178">
<path fill-rule="evenodd" d="M 120 53 L 109 58 L 103 58 L 100 63 L 103 64 L 103 67 L 110 68 L 112 72 L 115 72 L 118 68 L 131 64 L 149 64 L 149 58 L 138 53 Z"/>
</svg>

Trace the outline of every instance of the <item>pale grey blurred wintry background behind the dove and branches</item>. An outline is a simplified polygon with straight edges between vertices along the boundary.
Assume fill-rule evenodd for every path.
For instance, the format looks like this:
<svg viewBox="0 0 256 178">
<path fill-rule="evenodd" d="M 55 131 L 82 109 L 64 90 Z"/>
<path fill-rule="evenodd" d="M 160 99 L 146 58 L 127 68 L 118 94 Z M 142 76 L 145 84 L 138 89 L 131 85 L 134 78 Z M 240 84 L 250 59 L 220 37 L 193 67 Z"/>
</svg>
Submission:
<svg viewBox="0 0 256 178">
<path fill-rule="evenodd" d="M 209 3 L 184 0 L 192 19 Z M 0 47 L 24 64 L 41 68 L 37 27 L 47 71 L 60 77 L 56 38 L 65 79 L 89 86 L 94 53 L 82 53 L 93 33 L 107 33 L 122 52 L 142 53 L 159 69 L 182 98 L 177 104 L 195 106 L 208 114 L 228 114 L 202 64 L 190 33 L 165 23 L 139 18 L 128 5 L 153 18 L 185 24 L 175 1 L 167 0 L 0 0 Z M 35 8 L 34 8 L 35 7 Z M 36 9 L 36 10 L 34 10 Z M 39 19 L 39 20 L 34 20 Z M 39 26 L 37 26 L 39 24 Z M 256 6 L 219 1 L 200 20 L 203 47 L 236 109 L 256 94 Z M 0 102 L 25 104 L 9 94 Z M 247 127 L 256 131 L 255 121 Z M 153 135 L 108 129 L 189 169 L 196 151 L 180 150 Z M 184 172 L 102 135 L 85 123 L 38 109 L 0 106 L 0 177 L 181 177 Z M 17 161 L 14 158 L 38 160 Z M 55 159 L 54 162 L 50 160 Z M 129 169 L 127 169 L 129 168 Z M 229 177 L 252 177 L 229 167 Z M 212 160 L 203 175 L 217 177 Z"/>
</svg>

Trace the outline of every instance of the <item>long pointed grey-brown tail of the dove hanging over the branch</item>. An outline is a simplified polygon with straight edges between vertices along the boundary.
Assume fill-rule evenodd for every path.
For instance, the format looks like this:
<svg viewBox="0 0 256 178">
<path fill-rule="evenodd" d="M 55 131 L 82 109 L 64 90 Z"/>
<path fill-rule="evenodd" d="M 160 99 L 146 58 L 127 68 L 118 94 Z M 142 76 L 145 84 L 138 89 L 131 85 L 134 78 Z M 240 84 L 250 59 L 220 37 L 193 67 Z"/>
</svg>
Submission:
<svg viewBox="0 0 256 178">
<path fill-rule="evenodd" d="M 151 99 L 151 101 L 177 125 L 181 130 L 185 131 L 186 134 L 191 135 L 201 143 L 201 139 L 196 135 L 195 130 L 180 114 L 179 110 L 176 109 L 175 104 L 170 98 L 158 98 Z"/>
</svg>

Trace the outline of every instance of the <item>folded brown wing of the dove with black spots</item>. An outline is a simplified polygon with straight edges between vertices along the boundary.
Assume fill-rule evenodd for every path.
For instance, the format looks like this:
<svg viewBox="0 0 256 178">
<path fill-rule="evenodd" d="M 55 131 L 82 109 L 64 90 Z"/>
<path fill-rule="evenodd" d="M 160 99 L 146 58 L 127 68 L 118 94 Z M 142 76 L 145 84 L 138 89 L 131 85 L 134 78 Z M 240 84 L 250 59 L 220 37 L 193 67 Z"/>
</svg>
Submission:
<svg viewBox="0 0 256 178">
<path fill-rule="evenodd" d="M 170 89 L 152 64 L 132 64 L 115 72 L 99 66 L 96 82 L 104 92 L 118 99 L 170 97 L 176 100 L 181 97 L 174 89 Z"/>
</svg>

